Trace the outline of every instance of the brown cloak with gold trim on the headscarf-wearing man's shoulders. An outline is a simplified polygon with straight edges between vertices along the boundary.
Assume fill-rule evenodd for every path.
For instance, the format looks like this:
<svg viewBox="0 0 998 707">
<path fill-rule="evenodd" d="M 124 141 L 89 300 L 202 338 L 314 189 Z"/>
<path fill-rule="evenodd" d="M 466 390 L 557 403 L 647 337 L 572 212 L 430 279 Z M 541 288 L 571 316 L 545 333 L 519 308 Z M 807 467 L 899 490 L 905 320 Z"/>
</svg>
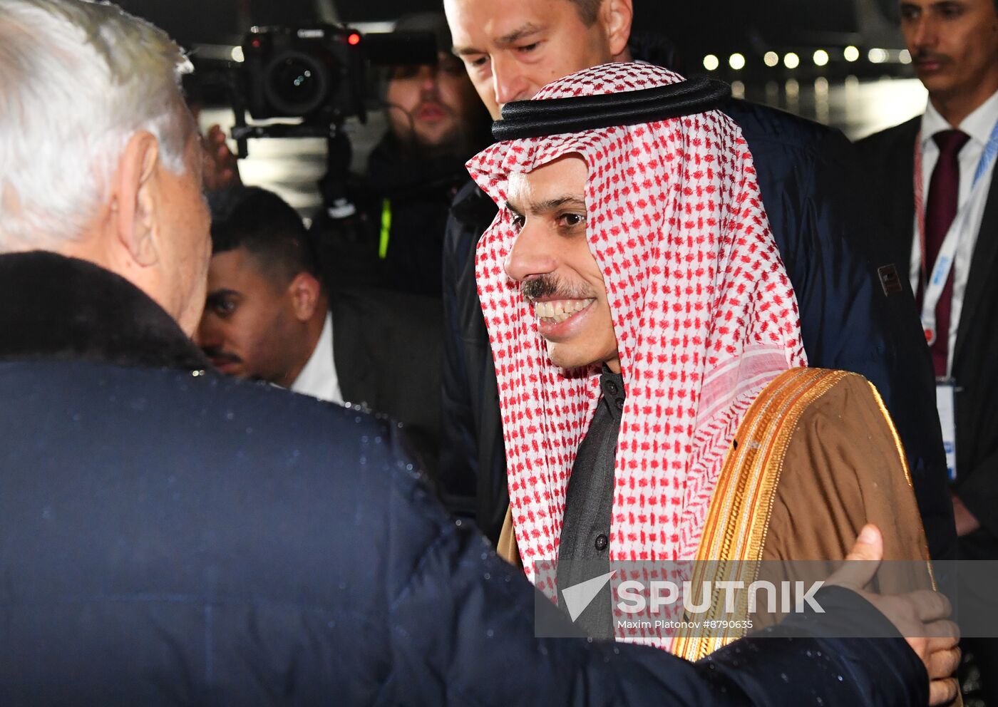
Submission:
<svg viewBox="0 0 998 707">
<path fill-rule="evenodd" d="M 876 389 L 844 371 L 786 371 L 763 389 L 739 426 L 697 553 L 712 576 L 702 572 L 695 585 L 726 579 L 749 586 L 760 578 L 760 560 L 769 562 L 762 578 L 780 581 L 790 578 L 791 560 L 843 559 L 867 523 L 883 534 L 885 560 L 915 560 L 883 574 L 874 590 L 933 586 L 904 451 Z M 498 551 L 520 564 L 509 513 Z M 750 617 L 753 628 L 766 621 L 749 616 L 744 601 L 735 614 L 722 614 L 724 605 L 713 601 L 717 615 L 697 619 Z M 745 633 L 681 634 L 672 652 L 698 660 Z"/>
</svg>

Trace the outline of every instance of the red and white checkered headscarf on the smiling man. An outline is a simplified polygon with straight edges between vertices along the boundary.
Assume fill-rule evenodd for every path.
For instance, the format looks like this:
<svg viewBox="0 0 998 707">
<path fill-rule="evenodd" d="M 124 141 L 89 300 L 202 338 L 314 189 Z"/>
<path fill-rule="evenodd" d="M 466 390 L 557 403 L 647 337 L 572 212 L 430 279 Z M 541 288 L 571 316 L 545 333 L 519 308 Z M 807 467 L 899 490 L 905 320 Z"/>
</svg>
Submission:
<svg viewBox="0 0 998 707">
<path fill-rule="evenodd" d="M 666 86 L 648 64 L 595 67 L 537 99 Z M 557 559 L 576 452 L 600 367 L 551 363 L 532 307 L 503 264 L 516 237 L 508 177 L 578 154 L 589 168 L 587 238 L 603 273 L 627 400 L 617 445 L 610 559 L 696 555 L 736 430 L 777 374 L 804 366 L 797 304 L 762 209 L 742 131 L 719 112 L 500 143 L 468 171 L 500 210 L 477 277 L 506 442 L 510 504 L 528 576 Z M 550 591 L 550 587 L 542 587 Z"/>
</svg>

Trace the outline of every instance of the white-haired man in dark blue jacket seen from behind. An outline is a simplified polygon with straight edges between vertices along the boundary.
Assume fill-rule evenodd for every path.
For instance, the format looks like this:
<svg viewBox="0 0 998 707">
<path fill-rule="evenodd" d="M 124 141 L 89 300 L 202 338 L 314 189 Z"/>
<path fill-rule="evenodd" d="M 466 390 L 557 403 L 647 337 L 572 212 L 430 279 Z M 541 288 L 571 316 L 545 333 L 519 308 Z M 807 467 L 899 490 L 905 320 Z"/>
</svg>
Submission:
<svg viewBox="0 0 998 707">
<path fill-rule="evenodd" d="M 176 45 L 112 5 L 0 0 L 0 52 L 0 704 L 900 707 L 947 674 L 951 639 L 896 632 L 699 664 L 535 637 L 529 583 L 396 426 L 225 379 L 191 342 L 209 224 Z M 822 591 L 770 635 L 893 631 Z"/>
</svg>

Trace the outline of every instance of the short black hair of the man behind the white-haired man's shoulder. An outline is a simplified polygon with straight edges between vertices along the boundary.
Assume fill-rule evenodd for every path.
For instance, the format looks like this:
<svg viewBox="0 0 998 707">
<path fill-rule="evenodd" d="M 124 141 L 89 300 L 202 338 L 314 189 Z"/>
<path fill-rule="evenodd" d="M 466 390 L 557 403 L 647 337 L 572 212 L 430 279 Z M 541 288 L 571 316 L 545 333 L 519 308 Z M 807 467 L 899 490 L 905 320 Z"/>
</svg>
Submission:
<svg viewBox="0 0 998 707">
<path fill-rule="evenodd" d="M 301 216 L 280 196 L 246 186 L 213 205 L 213 254 L 245 248 L 276 285 L 287 284 L 299 272 L 318 276 Z"/>
</svg>

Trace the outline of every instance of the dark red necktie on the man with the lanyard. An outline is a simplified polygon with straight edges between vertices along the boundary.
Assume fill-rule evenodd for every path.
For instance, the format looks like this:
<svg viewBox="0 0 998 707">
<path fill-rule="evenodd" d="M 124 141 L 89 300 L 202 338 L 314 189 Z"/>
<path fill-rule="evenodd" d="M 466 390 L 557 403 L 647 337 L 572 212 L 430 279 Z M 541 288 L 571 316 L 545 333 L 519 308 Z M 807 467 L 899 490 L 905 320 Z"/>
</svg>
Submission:
<svg viewBox="0 0 998 707">
<path fill-rule="evenodd" d="M 925 262 L 928 276 L 939 255 L 946 233 L 956 217 L 960 197 L 960 151 L 970 136 L 958 130 L 944 130 L 932 136 L 939 146 L 939 162 L 932 171 L 929 194 L 925 201 Z M 949 309 L 953 295 L 953 269 L 936 304 L 936 338 L 932 344 L 932 365 L 940 378 L 946 375 L 946 357 L 949 347 Z M 919 307 L 924 291 L 919 291 Z"/>
</svg>

